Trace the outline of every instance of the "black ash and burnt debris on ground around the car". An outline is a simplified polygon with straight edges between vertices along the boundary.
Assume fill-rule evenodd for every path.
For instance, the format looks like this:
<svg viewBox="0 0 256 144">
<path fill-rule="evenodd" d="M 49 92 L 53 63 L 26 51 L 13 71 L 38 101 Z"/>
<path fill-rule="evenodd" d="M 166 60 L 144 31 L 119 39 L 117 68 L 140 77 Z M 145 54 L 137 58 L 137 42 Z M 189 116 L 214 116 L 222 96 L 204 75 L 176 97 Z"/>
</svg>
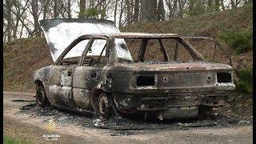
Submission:
<svg viewBox="0 0 256 144">
<path fill-rule="evenodd" d="M 112 118 L 102 121 L 94 118 L 92 114 L 78 114 L 67 112 L 65 110 L 57 110 L 52 106 L 39 110 L 35 103 L 30 103 L 20 108 L 21 114 L 30 114 L 34 116 L 50 116 L 55 122 L 72 124 L 77 126 L 114 130 L 111 135 L 129 135 L 134 132 L 129 130 L 188 130 L 192 127 L 205 126 L 237 126 L 252 124 L 251 119 L 231 118 L 225 115 L 218 115 L 216 118 L 189 118 L 189 119 L 174 119 L 174 120 L 156 120 L 144 118 L 134 118 L 133 116 Z M 47 122 L 50 118 L 44 120 Z M 124 132 L 128 130 L 129 132 Z"/>
</svg>

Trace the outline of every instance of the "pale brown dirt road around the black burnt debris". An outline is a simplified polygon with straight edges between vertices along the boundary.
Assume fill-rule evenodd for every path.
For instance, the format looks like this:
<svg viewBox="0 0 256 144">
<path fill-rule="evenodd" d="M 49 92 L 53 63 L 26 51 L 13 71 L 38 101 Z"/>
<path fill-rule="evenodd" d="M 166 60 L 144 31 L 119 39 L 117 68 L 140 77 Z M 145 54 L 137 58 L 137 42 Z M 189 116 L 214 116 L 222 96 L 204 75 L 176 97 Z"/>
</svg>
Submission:
<svg viewBox="0 0 256 144">
<path fill-rule="evenodd" d="M 43 135 L 50 134 L 46 124 L 47 119 L 52 116 L 19 112 L 19 109 L 30 104 L 31 100 L 34 100 L 33 94 L 4 93 L 5 134 L 34 143 L 252 143 L 253 141 L 251 125 L 200 127 L 188 130 L 136 130 L 134 134 L 112 136 L 113 130 L 58 122 L 55 123 L 52 134 L 58 134 L 60 138 L 46 141 Z"/>
</svg>

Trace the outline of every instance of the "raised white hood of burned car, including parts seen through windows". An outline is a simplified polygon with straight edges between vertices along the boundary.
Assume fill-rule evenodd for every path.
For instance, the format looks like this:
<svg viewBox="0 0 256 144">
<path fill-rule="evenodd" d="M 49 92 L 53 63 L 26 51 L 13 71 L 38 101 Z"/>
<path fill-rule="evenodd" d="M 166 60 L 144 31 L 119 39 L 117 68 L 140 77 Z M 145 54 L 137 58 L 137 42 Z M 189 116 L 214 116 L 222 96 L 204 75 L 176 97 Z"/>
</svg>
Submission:
<svg viewBox="0 0 256 144">
<path fill-rule="evenodd" d="M 42 30 L 46 37 L 46 42 L 50 48 L 50 54 L 56 62 L 62 52 L 76 38 L 84 34 L 102 34 L 102 33 L 120 33 L 114 22 L 107 20 L 96 19 L 80 19 L 80 18 L 57 18 L 40 21 Z M 79 42 L 74 46 L 65 58 L 78 57 L 82 55 L 89 40 Z M 97 46 L 104 47 L 106 42 L 97 42 Z M 117 49 L 118 58 L 132 60 L 130 51 L 127 49 L 124 39 L 116 39 L 115 46 Z M 93 49 L 87 55 L 98 56 L 102 50 Z M 105 55 L 104 51 L 102 55 Z"/>
</svg>

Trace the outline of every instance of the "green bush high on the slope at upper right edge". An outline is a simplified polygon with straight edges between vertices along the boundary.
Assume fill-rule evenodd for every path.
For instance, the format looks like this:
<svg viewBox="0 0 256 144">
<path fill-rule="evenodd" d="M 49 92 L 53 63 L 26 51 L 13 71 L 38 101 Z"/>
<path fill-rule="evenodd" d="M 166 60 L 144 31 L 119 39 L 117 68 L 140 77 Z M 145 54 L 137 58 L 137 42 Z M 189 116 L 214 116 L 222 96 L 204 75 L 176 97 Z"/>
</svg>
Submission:
<svg viewBox="0 0 256 144">
<path fill-rule="evenodd" d="M 252 31 L 239 32 L 231 30 L 224 32 L 220 37 L 231 48 L 236 50 L 237 54 L 247 52 L 253 47 L 253 33 Z"/>
</svg>

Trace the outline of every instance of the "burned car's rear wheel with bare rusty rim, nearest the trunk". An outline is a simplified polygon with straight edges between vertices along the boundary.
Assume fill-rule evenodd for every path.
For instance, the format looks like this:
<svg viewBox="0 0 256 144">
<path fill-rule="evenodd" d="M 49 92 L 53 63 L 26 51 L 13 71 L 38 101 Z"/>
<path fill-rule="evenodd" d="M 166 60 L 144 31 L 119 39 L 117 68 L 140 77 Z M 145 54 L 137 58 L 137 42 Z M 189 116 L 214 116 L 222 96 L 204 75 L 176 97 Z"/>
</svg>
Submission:
<svg viewBox="0 0 256 144">
<path fill-rule="evenodd" d="M 108 119 L 113 116 L 112 102 L 107 94 L 99 94 L 97 104 L 97 114 L 99 118 Z"/>
</svg>

